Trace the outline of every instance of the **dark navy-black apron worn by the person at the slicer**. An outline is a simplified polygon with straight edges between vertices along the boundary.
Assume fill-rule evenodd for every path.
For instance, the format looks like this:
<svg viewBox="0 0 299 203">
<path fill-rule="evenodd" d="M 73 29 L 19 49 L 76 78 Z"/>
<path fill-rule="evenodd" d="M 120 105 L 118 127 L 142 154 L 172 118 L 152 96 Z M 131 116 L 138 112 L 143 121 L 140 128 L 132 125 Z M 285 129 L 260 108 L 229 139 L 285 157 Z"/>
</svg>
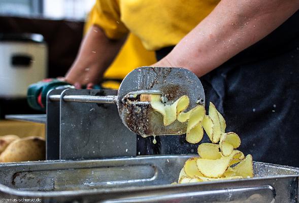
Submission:
<svg viewBox="0 0 299 203">
<path fill-rule="evenodd" d="M 172 50 L 156 52 L 161 59 Z M 226 131 L 241 138 L 253 160 L 299 166 L 299 11 L 258 43 L 200 78 L 209 101 L 224 116 Z M 196 153 L 183 136 L 138 139 L 138 154 Z M 210 142 L 204 136 L 201 141 Z"/>
</svg>

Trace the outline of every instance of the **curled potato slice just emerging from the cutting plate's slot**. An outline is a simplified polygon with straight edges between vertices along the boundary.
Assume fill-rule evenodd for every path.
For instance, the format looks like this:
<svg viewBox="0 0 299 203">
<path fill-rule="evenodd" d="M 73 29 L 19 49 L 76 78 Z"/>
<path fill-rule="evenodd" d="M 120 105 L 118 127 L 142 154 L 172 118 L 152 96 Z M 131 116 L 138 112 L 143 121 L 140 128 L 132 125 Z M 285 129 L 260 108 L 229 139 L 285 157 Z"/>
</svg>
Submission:
<svg viewBox="0 0 299 203">
<path fill-rule="evenodd" d="M 161 103 L 161 95 L 152 94 L 151 96 L 152 108 L 162 114 L 164 126 L 172 124 L 179 113 L 184 111 L 189 106 L 189 97 L 186 95 L 181 96 L 172 105 L 164 105 Z"/>
</svg>

